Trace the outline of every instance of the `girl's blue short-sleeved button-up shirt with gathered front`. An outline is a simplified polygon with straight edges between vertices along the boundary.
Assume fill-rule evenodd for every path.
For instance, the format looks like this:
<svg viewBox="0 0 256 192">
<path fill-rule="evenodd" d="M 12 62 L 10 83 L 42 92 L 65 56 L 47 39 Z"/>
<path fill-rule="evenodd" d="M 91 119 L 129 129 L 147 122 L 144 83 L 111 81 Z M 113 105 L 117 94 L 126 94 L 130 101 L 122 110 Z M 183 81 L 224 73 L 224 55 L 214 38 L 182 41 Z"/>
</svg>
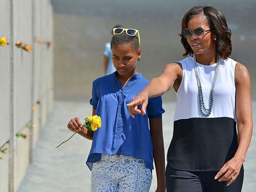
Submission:
<svg viewBox="0 0 256 192">
<path fill-rule="evenodd" d="M 134 156 L 143 159 L 146 167 L 153 169 L 148 118 L 162 118 L 162 97 L 150 98 L 146 115 L 135 114 L 135 118 L 130 116 L 126 106 L 148 82 L 138 73 L 123 88 L 116 72 L 93 81 L 90 104 L 102 123 L 93 133 L 92 148 L 86 162 L 90 169 L 93 162 L 100 160 L 101 154 Z"/>
</svg>

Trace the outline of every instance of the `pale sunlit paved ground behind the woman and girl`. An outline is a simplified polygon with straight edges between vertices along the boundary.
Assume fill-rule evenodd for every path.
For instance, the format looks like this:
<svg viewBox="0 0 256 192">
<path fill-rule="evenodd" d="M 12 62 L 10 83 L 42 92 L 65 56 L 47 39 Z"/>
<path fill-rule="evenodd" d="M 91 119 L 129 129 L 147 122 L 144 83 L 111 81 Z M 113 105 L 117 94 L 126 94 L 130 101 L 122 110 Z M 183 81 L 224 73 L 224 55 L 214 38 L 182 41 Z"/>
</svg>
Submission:
<svg viewBox="0 0 256 192">
<path fill-rule="evenodd" d="M 166 112 L 163 116 L 164 147 L 167 153 L 172 138 L 172 120 L 175 103 L 164 102 Z M 256 102 L 253 103 L 256 111 Z M 90 115 L 92 107 L 85 102 L 55 101 L 54 108 L 46 123 L 35 148 L 33 164 L 28 171 L 18 192 L 89 192 L 91 172 L 85 165 L 85 160 L 91 147 L 91 141 L 75 135 L 71 140 L 56 148 L 62 141 L 68 139 L 70 132 L 66 125 L 68 121 L 78 116 L 80 119 Z M 256 115 L 254 115 L 256 122 Z M 256 133 L 244 163 L 245 176 L 243 192 L 252 192 L 256 188 Z M 166 156 L 166 155 L 165 155 Z M 150 192 L 156 189 L 156 175 Z"/>
</svg>

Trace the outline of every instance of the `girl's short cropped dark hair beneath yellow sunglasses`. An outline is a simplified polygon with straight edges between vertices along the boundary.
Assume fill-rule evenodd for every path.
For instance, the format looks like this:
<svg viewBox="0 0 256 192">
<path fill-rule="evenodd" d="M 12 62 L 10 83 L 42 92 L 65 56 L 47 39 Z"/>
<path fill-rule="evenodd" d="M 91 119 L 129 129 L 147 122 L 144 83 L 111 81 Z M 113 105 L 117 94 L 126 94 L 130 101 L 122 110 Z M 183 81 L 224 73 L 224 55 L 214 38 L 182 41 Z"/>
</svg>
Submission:
<svg viewBox="0 0 256 192">
<path fill-rule="evenodd" d="M 132 46 L 132 49 L 134 51 L 139 51 L 139 49 L 140 49 L 138 37 L 127 35 L 125 33 L 125 31 L 121 34 L 114 35 L 112 37 L 111 43 L 110 43 L 111 49 L 113 48 L 113 46 L 119 45 L 119 44 L 130 45 L 130 46 Z"/>
</svg>

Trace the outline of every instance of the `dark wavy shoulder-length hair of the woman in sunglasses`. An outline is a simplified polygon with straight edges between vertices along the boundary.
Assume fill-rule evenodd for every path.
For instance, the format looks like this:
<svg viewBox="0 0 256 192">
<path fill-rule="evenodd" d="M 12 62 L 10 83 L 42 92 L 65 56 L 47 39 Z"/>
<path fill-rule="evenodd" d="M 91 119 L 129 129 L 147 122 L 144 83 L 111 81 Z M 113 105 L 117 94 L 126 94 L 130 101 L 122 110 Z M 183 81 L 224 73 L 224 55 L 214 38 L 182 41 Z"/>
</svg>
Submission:
<svg viewBox="0 0 256 192">
<path fill-rule="evenodd" d="M 231 30 L 228 28 L 227 21 L 223 13 L 212 6 L 197 5 L 192 7 L 183 17 L 181 22 L 181 33 L 178 34 L 181 37 L 181 43 L 185 48 L 185 53 L 182 55 L 186 57 L 193 55 L 194 52 L 188 44 L 187 39 L 183 36 L 182 32 L 188 26 L 188 21 L 194 16 L 204 14 L 210 29 L 216 32 L 216 50 L 220 54 L 222 59 L 228 59 L 232 53 L 231 44 Z"/>
</svg>

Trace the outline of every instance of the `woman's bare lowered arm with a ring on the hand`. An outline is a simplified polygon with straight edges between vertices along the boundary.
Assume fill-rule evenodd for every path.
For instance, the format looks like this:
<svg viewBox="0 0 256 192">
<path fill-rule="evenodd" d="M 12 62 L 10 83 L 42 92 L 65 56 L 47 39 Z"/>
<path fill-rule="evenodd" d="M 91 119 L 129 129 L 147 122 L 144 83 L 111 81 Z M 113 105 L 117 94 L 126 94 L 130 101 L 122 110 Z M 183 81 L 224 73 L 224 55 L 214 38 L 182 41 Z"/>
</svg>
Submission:
<svg viewBox="0 0 256 192">
<path fill-rule="evenodd" d="M 235 156 L 220 169 L 216 179 L 226 173 L 219 180 L 230 180 L 230 175 L 234 176 L 227 185 L 233 183 L 239 175 L 245 155 L 252 139 L 252 100 L 251 83 L 247 68 L 241 63 L 235 68 L 236 83 L 236 118 L 237 118 L 237 140 L 238 149 Z M 228 178 L 229 177 L 229 178 Z"/>
</svg>

